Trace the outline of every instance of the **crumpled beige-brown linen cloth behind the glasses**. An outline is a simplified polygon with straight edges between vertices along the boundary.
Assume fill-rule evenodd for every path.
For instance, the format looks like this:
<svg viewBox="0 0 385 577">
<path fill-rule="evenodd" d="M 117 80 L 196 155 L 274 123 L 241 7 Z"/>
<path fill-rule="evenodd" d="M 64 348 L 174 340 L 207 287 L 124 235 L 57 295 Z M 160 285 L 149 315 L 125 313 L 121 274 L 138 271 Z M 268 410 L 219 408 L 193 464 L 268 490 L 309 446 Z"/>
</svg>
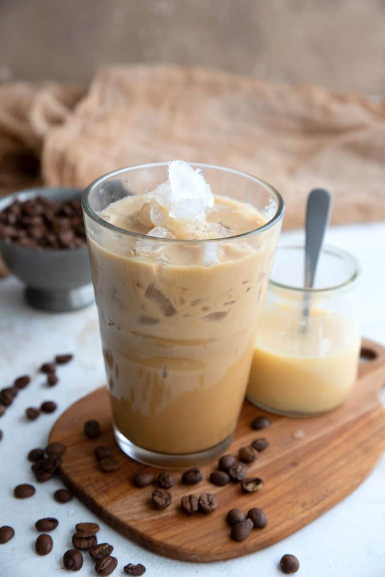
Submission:
<svg viewBox="0 0 385 577">
<path fill-rule="evenodd" d="M 85 186 L 129 164 L 185 159 L 257 175 L 301 226 L 311 188 L 333 220 L 385 218 L 385 100 L 175 66 L 101 70 L 79 87 L 0 88 L 0 186 Z M 39 173 L 39 159 L 41 172 Z"/>
</svg>

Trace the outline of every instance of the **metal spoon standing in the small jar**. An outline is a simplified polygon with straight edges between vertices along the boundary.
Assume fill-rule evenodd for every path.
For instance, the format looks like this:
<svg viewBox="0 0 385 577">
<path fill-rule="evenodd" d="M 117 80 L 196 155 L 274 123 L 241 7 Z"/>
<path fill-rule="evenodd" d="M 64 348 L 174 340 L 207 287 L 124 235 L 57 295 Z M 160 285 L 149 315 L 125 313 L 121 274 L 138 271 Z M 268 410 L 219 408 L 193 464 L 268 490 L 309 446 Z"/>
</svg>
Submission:
<svg viewBox="0 0 385 577">
<path fill-rule="evenodd" d="M 319 255 L 326 229 L 330 221 L 331 196 L 327 190 L 315 188 L 308 196 L 305 225 L 305 288 L 312 288 L 317 270 Z M 302 307 L 301 332 L 308 328 L 311 308 L 311 293 L 304 293 Z"/>
</svg>

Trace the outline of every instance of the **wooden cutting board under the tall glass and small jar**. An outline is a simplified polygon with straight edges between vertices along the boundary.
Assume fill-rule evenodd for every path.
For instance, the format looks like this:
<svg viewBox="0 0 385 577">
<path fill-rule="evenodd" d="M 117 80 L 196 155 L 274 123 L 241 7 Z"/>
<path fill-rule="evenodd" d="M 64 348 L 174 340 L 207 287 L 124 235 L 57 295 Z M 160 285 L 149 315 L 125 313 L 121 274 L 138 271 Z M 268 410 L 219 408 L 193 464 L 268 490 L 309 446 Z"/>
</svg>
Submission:
<svg viewBox="0 0 385 577">
<path fill-rule="evenodd" d="M 229 453 L 256 437 L 270 442 L 259 459 L 249 465 L 249 476 L 264 480 L 258 493 L 244 494 L 238 484 L 216 487 L 208 481 L 216 462 L 201 467 L 203 481 L 184 486 L 180 473 L 171 489 L 173 503 L 163 511 L 149 506 L 152 487 L 135 488 L 130 479 L 143 469 L 125 456 L 114 441 L 107 389 L 102 387 L 80 399 L 55 423 L 51 441 L 67 447 L 62 480 L 92 511 L 114 529 L 146 548 L 185 561 L 220 561 L 270 546 L 305 526 L 341 501 L 367 477 L 385 449 L 385 413 L 380 388 L 385 382 L 385 348 L 365 341 L 365 362 L 350 398 L 339 409 L 319 417 L 290 419 L 269 415 L 271 425 L 253 431 L 250 422 L 263 411 L 245 402 Z M 87 419 L 98 419 L 102 436 L 89 440 L 83 434 Z M 301 432 L 301 433 L 298 433 Z M 260 434 L 261 433 L 261 434 Z M 97 445 L 108 445 L 121 463 L 102 473 L 93 456 Z M 159 470 L 154 470 L 158 472 Z M 215 493 L 219 507 L 210 515 L 188 517 L 180 510 L 182 495 Z M 229 537 L 225 517 L 232 507 L 245 512 L 261 507 L 267 527 L 253 530 L 237 543 Z"/>
</svg>

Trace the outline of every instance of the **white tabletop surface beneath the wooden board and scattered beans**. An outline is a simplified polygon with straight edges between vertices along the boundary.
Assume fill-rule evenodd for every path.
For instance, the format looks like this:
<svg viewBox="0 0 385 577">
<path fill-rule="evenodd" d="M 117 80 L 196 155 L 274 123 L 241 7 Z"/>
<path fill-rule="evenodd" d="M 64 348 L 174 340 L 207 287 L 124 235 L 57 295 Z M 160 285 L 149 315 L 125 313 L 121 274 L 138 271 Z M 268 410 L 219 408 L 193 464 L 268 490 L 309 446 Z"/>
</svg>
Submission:
<svg viewBox="0 0 385 577">
<path fill-rule="evenodd" d="M 299 233 L 282 235 L 282 241 L 301 238 Z M 362 265 L 360 313 L 362 332 L 385 344 L 385 223 L 332 228 L 327 242 L 356 254 Z M 68 314 L 46 314 L 28 308 L 21 284 L 14 278 L 0 282 L 0 376 L 1 387 L 9 386 L 20 374 L 36 378 L 14 400 L 0 419 L 0 526 L 9 524 L 16 531 L 8 544 L 0 545 L 0 577 L 25 575 L 63 575 L 62 554 L 71 548 L 74 524 L 95 520 L 100 524 L 99 542 L 114 545 L 119 561 L 114 575 L 123 575 L 127 563 L 142 563 L 146 576 L 184 577 L 216 575 L 270 577 L 282 575 L 278 569 L 284 553 L 295 554 L 301 563 L 298 575 L 311 577 L 383 577 L 385 575 L 385 459 L 369 478 L 349 497 L 291 537 L 263 551 L 240 559 L 213 564 L 182 563 L 160 557 L 128 541 L 76 499 L 61 505 L 53 500 L 62 484 L 52 479 L 38 484 L 29 470 L 26 455 L 33 447 L 44 447 L 47 434 L 74 400 L 104 383 L 95 306 Z M 59 369 L 60 382 L 53 389 L 44 386 L 36 368 L 55 354 L 75 352 L 76 358 Z M 53 399 L 58 410 L 27 422 L 24 410 Z M 13 498 L 13 488 L 32 482 L 36 494 L 28 500 Z M 289 512 L 288 512 L 289 514 Z M 51 533 L 54 548 L 46 557 L 34 550 L 35 521 L 45 516 L 59 520 Z M 175 527 L 177 531 L 177 527 Z M 98 535 L 98 537 L 99 537 Z M 84 555 L 77 575 L 95 575 Z"/>
</svg>

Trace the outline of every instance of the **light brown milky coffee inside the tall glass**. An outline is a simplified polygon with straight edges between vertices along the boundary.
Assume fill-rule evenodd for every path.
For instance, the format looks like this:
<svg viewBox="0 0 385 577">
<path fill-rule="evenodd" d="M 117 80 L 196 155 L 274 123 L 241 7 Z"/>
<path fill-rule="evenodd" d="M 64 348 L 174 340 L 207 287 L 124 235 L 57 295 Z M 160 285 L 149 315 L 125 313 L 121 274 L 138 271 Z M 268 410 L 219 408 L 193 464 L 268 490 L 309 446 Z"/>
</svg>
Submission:
<svg viewBox="0 0 385 577">
<path fill-rule="evenodd" d="M 101 216 L 146 234 L 145 200 L 126 197 Z M 264 223 L 251 205 L 218 196 L 207 221 L 231 234 Z M 151 451 L 214 447 L 236 427 L 279 227 L 162 248 L 107 233 L 89 246 L 115 425 Z"/>
</svg>

